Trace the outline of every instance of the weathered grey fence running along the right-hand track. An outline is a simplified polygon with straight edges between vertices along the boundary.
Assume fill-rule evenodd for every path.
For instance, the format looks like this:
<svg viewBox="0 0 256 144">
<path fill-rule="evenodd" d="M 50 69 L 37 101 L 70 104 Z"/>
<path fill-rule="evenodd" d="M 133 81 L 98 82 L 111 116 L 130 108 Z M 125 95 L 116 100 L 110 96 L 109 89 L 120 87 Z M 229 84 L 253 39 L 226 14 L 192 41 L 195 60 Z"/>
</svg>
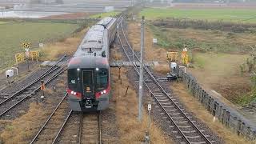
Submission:
<svg viewBox="0 0 256 144">
<path fill-rule="evenodd" d="M 234 108 L 227 106 L 227 104 L 222 102 L 219 98 L 214 97 L 213 94 L 203 90 L 196 78 L 191 74 L 187 74 L 184 70 L 179 68 L 178 74 L 182 77 L 182 81 L 185 82 L 192 95 L 206 107 L 206 110 L 208 110 L 210 114 L 218 118 L 223 125 L 230 127 L 230 129 L 238 135 L 243 135 L 250 139 L 256 138 L 256 126 L 254 126 L 252 122 L 244 118 L 242 114 L 239 114 Z"/>
</svg>

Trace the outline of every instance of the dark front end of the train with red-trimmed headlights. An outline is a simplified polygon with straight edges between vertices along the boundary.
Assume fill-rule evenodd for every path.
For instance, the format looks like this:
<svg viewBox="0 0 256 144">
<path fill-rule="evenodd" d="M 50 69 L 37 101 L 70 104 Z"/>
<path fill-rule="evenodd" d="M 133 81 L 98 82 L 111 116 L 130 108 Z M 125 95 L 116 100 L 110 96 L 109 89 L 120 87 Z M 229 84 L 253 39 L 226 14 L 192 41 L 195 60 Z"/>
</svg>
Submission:
<svg viewBox="0 0 256 144">
<path fill-rule="evenodd" d="M 109 106 L 110 96 L 110 73 L 106 58 L 72 58 L 67 92 L 71 110 L 105 110 Z"/>
</svg>

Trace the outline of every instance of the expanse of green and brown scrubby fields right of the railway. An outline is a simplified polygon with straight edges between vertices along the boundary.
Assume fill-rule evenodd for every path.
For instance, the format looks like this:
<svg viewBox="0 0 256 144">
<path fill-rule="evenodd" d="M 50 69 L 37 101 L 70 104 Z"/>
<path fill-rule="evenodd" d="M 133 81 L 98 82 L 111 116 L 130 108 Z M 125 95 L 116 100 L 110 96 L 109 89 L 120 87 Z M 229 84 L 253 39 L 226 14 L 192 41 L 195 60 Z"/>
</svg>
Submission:
<svg viewBox="0 0 256 144">
<path fill-rule="evenodd" d="M 255 14 L 254 9 L 153 8 L 140 13 L 151 20 L 147 22 L 147 28 L 154 38 L 158 38 L 160 48 L 181 51 L 186 44 L 190 73 L 207 90 L 216 90 L 240 106 L 256 100 L 254 82 L 251 81 L 251 71 L 256 67 L 251 56 L 251 47 L 256 45 Z M 219 20 L 222 22 L 216 23 Z"/>
</svg>

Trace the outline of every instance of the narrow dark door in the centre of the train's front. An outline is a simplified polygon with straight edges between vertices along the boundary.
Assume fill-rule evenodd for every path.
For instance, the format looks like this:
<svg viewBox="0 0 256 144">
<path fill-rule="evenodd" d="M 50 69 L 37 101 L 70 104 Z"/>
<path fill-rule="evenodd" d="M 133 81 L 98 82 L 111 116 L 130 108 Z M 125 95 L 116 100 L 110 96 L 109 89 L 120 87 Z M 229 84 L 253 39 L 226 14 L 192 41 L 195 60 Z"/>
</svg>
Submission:
<svg viewBox="0 0 256 144">
<path fill-rule="evenodd" d="M 94 94 L 94 73 L 93 70 L 82 71 L 83 94 L 89 96 Z"/>
</svg>

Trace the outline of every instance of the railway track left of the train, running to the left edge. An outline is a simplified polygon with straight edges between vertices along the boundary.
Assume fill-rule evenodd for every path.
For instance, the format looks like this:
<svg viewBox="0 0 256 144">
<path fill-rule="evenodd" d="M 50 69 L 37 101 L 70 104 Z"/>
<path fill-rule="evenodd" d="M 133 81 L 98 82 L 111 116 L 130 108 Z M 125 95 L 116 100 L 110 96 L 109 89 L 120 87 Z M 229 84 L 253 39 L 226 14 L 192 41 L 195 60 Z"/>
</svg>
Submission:
<svg viewBox="0 0 256 144">
<path fill-rule="evenodd" d="M 45 84 L 47 84 L 54 78 L 58 77 L 59 74 L 62 74 L 66 70 L 65 64 L 62 66 L 57 66 L 57 64 L 62 62 L 65 58 L 66 56 L 61 58 L 54 66 L 50 67 L 49 70 L 46 70 L 45 73 L 36 78 L 33 82 L 30 82 L 30 84 L 22 87 L 22 89 L 2 100 L 0 102 L 0 118 L 6 115 L 10 110 L 13 110 L 14 107 L 17 107 L 28 98 L 31 98 L 35 92 L 40 89 L 42 80 L 45 82 Z"/>
</svg>

